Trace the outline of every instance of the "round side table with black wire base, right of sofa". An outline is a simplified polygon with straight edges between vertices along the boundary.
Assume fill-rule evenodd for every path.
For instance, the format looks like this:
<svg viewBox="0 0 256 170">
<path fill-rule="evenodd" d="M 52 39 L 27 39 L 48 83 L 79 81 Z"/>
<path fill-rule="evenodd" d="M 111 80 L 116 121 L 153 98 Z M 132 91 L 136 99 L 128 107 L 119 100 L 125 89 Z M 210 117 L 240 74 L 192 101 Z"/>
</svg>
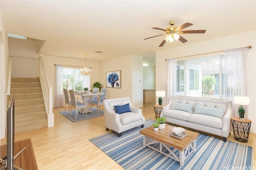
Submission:
<svg viewBox="0 0 256 170">
<path fill-rule="evenodd" d="M 231 117 L 234 132 L 234 139 L 239 142 L 247 143 L 252 121 L 250 119 L 241 120 L 239 117 Z"/>
</svg>

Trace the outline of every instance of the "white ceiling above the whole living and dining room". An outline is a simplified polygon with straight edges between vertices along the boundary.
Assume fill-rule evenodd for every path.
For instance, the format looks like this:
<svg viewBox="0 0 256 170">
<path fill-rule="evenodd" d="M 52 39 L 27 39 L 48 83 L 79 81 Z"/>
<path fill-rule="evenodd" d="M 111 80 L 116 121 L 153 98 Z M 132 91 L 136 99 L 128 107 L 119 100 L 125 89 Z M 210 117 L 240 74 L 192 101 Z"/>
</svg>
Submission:
<svg viewBox="0 0 256 170">
<path fill-rule="evenodd" d="M 6 32 L 46 41 L 39 53 L 104 61 L 125 55 L 152 57 L 160 35 L 170 20 L 183 30 L 206 29 L 204 34 L 183 34 L 186 43 L 174 42 L 174 48 L 256 29 L 256 1 L 222 0 L 1 0 L 1 17 Z M 96 51 L 102 51 L 98 54 Z"/>
</svg>

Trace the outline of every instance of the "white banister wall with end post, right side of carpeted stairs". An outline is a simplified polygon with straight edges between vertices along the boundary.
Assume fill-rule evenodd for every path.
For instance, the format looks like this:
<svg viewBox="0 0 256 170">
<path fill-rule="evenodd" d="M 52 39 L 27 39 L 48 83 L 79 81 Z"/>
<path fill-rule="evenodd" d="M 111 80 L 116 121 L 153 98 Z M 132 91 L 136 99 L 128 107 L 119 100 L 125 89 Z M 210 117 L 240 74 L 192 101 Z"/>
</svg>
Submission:
<svg viewBox="0 0 256 170">
<path fill-rule="evenodd" d="M 46 108 L 46 114 L 48 119 L 48 127 L 54 126 L 54 113 L 52 113 L 52 88 L 50 86 L 48 76 L 44 69 L 44 62 L 42 55 L 40 54 L 39 60 L 39 79 L 42 86 L 42 93 L 44 98 L 44 105 Z"/>
</svg>

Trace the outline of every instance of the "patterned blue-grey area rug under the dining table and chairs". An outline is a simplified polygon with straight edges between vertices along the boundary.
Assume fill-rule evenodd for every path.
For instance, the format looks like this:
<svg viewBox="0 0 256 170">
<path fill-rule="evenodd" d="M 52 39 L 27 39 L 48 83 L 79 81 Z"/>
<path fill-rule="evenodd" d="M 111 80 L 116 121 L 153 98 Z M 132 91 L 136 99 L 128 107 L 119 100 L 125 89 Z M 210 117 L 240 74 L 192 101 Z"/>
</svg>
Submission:
<svg viewBox="0 0 256 170">
<path fill-rule="evenodd" d="M 72 110 L 71 116 L 70 116 L 70 113 L 68 113 L 68 111 L 65 111 L 65 112 L 64 111 L 60 111 L 60 114 L 64 115 L 70 121 L 76 122 L 76 121 L 82 121 L 82 120 L 86 120 L 86 119 L 92 119 L 94 117 L 104 116 L 104 111 L 103 110 L 99 110 L 99 114 L 98 114 L 98 110 L 93 107 L 92 108 L 92 113 L 87 113 L 87 117 L 86 117 L 86 114 L 82 115 L 81 113 L 79 113 L 79 111 L 77 111 L 77 115 L 76 115 L 76 111 L 75 110 Z"/>
</svg>

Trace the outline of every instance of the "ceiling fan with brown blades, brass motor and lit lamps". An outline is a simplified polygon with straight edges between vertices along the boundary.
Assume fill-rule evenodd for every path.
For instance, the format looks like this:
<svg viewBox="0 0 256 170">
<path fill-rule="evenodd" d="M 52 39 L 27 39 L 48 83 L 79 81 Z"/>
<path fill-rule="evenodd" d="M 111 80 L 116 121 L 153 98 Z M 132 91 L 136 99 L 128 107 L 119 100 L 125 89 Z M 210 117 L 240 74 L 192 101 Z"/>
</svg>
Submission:
<svg viewBox="0 0 256 170">
<path fill-rule="evenodd" d="M 183 34 L 183 33 L 205 33 L 205 31 L 206 31 L 205 29 L 181 31 L 182 29 L 193 25 L 192 23 L 188 23 L 188 22 L 184 23 L 183 25 L 180 25 L 179 27 L 174 26 L 174 24 L 175 24 L 174 20 L 170 21 L 169 24 L 171 26 L 167 27 L 166 29 L 153 27 L 153 29 L 158 29 L 158 30 L 161 30 L 161 31 L 165 31 L 166 33 L 156 35 L 156 36 L 153 36 L 153 37 L 148 37 L 148 38 L 145 38 L 145 39 L 150 39 L 150 38 L 158 37 L 158 36 L 161 36 L 161 35 L 167 35 L 166 38 L 162 41 L 162 43 L 159 45 L 159 47 L 162 47 L 162 46 L 164 46 L 166 41 L 172 43 L 172 42 L 174 42 L 174 40 L 176 40 L 176 41 L 180 40 L 182 43 L 186 43 L 188 40 L 184 39 L 182 36 L 180 36 L 180 34 Z"/>
</svg>

